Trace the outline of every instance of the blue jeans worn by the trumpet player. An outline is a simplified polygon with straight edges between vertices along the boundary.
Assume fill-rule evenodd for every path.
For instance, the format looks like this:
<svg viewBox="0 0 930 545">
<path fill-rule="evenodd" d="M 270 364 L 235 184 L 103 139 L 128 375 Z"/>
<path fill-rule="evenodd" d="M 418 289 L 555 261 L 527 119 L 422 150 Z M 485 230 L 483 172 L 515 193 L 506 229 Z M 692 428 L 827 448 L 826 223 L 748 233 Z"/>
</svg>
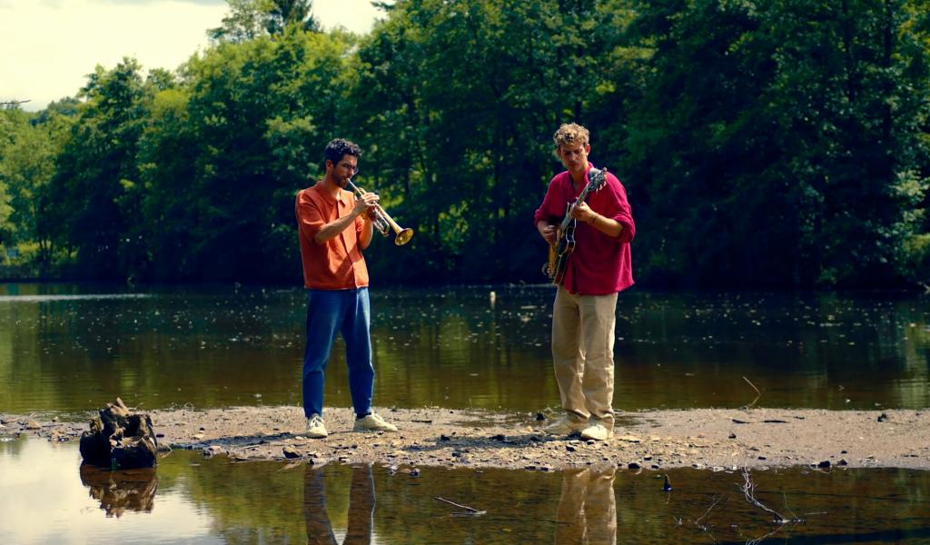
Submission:
<svg viewBox="0 0 930 545">
<path fill-rule="evenodd" d="M 303 413 L 323 416 L 326 361 L 337 333 L 346 343 L 349 391 L 357 416 L 371 412 L 375 367 L 371 364 L 371 304 L 368 288 L 310 289 L 307 296 L 307 346 L 303 351 Z"/>
</svg>

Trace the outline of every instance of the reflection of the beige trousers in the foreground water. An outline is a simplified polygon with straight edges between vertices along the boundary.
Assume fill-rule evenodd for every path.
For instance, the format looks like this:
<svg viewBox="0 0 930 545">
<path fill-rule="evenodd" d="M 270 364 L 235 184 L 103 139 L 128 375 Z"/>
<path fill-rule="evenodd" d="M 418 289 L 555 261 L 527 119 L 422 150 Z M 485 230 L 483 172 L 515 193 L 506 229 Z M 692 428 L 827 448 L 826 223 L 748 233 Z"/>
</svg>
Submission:
<svg viewBox="0 0 930 545">
<path fill-rule="evenodd" d="M 556 545 L 617 543 L 614 468 L 567 470 L 556 516 Z"/>
</svg>

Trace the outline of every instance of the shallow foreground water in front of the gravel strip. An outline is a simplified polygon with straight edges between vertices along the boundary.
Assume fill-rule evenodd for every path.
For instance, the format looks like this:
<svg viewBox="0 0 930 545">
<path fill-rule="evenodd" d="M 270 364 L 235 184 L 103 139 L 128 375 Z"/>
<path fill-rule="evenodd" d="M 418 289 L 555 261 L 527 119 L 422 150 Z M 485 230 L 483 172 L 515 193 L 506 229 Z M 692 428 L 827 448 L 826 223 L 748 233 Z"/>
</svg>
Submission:
<svg viewBox="0 0 930 545">
<path fill-rule="evenodd" d="M 175 451 L 159 460 L 157 485 L 108 476 L 98 498 L 79 463 L 73 444 L 0 442 L 0 543 L 665 545 L 746 543 L 773 531 L 769 540 L 790 543 L 930 542 L 930 472 L 752 472 L 760 501 L 804 519 L 777 525 L 743 497 L 739 472 L 669 471 L 674 490 L 664 492 L 662 476 L 647 471 L 421 468 L 414 477 Z M 153 499 L 142 499 L 148 491 Z M 141 509 L 107 516 L 119 501 L 102 499 L 112 492 L 138 497 L 128 502 Z M 456 516 L 437 497 L 485 514 Z"/>
</svg>

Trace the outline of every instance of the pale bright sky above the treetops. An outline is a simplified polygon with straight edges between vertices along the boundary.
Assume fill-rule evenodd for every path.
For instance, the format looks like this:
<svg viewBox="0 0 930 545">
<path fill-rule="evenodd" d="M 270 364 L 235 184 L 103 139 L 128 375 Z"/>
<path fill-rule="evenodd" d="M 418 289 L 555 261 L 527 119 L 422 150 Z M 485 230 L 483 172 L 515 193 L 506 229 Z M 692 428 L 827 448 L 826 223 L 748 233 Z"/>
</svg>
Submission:
<svg viewBox="0 0 930 545">
<path fill-rule="evenodd" d="M 0 101 L 42 110 L 124 57 L 174 70 L 227 11 L 225 0 L 0 0 Z M 314 0 L 313 15 L 325 29 L 366 33 L 383 13 L 370 0 Z"/>
</svg>

